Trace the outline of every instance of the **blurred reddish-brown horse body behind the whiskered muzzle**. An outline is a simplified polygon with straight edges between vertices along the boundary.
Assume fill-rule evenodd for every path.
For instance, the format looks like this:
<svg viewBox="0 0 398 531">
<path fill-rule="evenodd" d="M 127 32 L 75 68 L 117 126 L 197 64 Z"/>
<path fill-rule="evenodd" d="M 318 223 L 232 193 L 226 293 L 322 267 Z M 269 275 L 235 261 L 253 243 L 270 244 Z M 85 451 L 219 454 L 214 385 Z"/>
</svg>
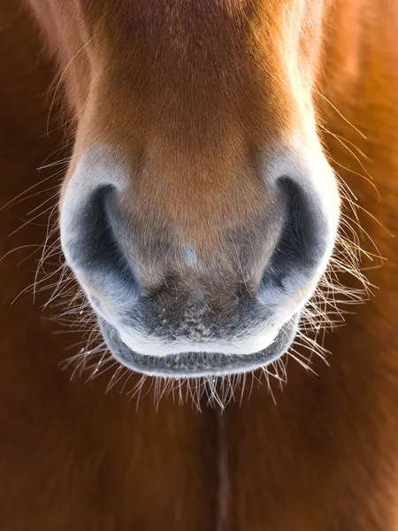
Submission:
<svg viewBox="0 0 398 531">
<path fill-rule="evenodd" d="M 0 8 L 2 203 L 34 183 L 35 168 L 59 142 L 54 135 L 50 141 L 43 137 L 50 75 L 31 24 L 14 4 Z M 367 181 L 341 167 L 364 173 L 339 139 L 325 133 L 324 142 L 360 204 L 396 233 L 397 8 L 392 0 L 339 0 L 330 17 L 328 62 L 318 89 L 367 140 L 320 96 L 319 112 L 329 131 L 372 159 L 365 165 L 379 200 Z M 75 76 L 80 79 L 78 71 Z M 69 95 L 80 109 L 78 91 Z M 23 216 L 27 206 L 12 212 Z M 397 249 L 364 212 L 361 223 L 387 262 L 368 271 L 379 287 L 371 301 L 356 307 L 347 327 L 327 336 L 330 368 L 315 361 L 317 377 L 290 360 L 284 392 L 272 386 L 277 405 L 255 382 L 250 398 L 230 404 L 221 417 L 173 404 L 171 396 L 158 412 L 147 396 L 135 412 L 126 396 L 104 395 L 106 375 L 86 386 L 70 382 L 57 362 L 73 341 L 52 336 L 54 325 L 27 307 L 26 298 L 9 307 L 32 280 L 32 262 L 15 269 L 16 254 L 5 258 L 0 527 L 393 531 Z M 2 252 L 19 224 L 2 212 Z M 44 236 L 45 227 L 32 226 L 12 245 L 42 242 Z M 363 243 L 370 247 L 365 236 Z"/>
</svg>

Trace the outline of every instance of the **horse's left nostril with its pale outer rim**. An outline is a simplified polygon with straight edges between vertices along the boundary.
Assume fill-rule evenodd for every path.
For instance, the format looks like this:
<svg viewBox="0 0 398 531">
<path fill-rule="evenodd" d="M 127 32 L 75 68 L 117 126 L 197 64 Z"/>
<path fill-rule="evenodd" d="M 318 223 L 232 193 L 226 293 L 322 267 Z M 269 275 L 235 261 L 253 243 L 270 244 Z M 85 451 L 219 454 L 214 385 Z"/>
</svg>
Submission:
<svg viewBox="0 0 398 531">
<path fill-rule="evenodd" d="M 85 284 L 112 294 L 135 289 L 134 272 L 119 244 L 118 191 L 99 187 L 87 197 L 69 197 L 61 214 L 66 261 Z M 127 285 L 127 286 L 126 286 Z"/>
</svg>

